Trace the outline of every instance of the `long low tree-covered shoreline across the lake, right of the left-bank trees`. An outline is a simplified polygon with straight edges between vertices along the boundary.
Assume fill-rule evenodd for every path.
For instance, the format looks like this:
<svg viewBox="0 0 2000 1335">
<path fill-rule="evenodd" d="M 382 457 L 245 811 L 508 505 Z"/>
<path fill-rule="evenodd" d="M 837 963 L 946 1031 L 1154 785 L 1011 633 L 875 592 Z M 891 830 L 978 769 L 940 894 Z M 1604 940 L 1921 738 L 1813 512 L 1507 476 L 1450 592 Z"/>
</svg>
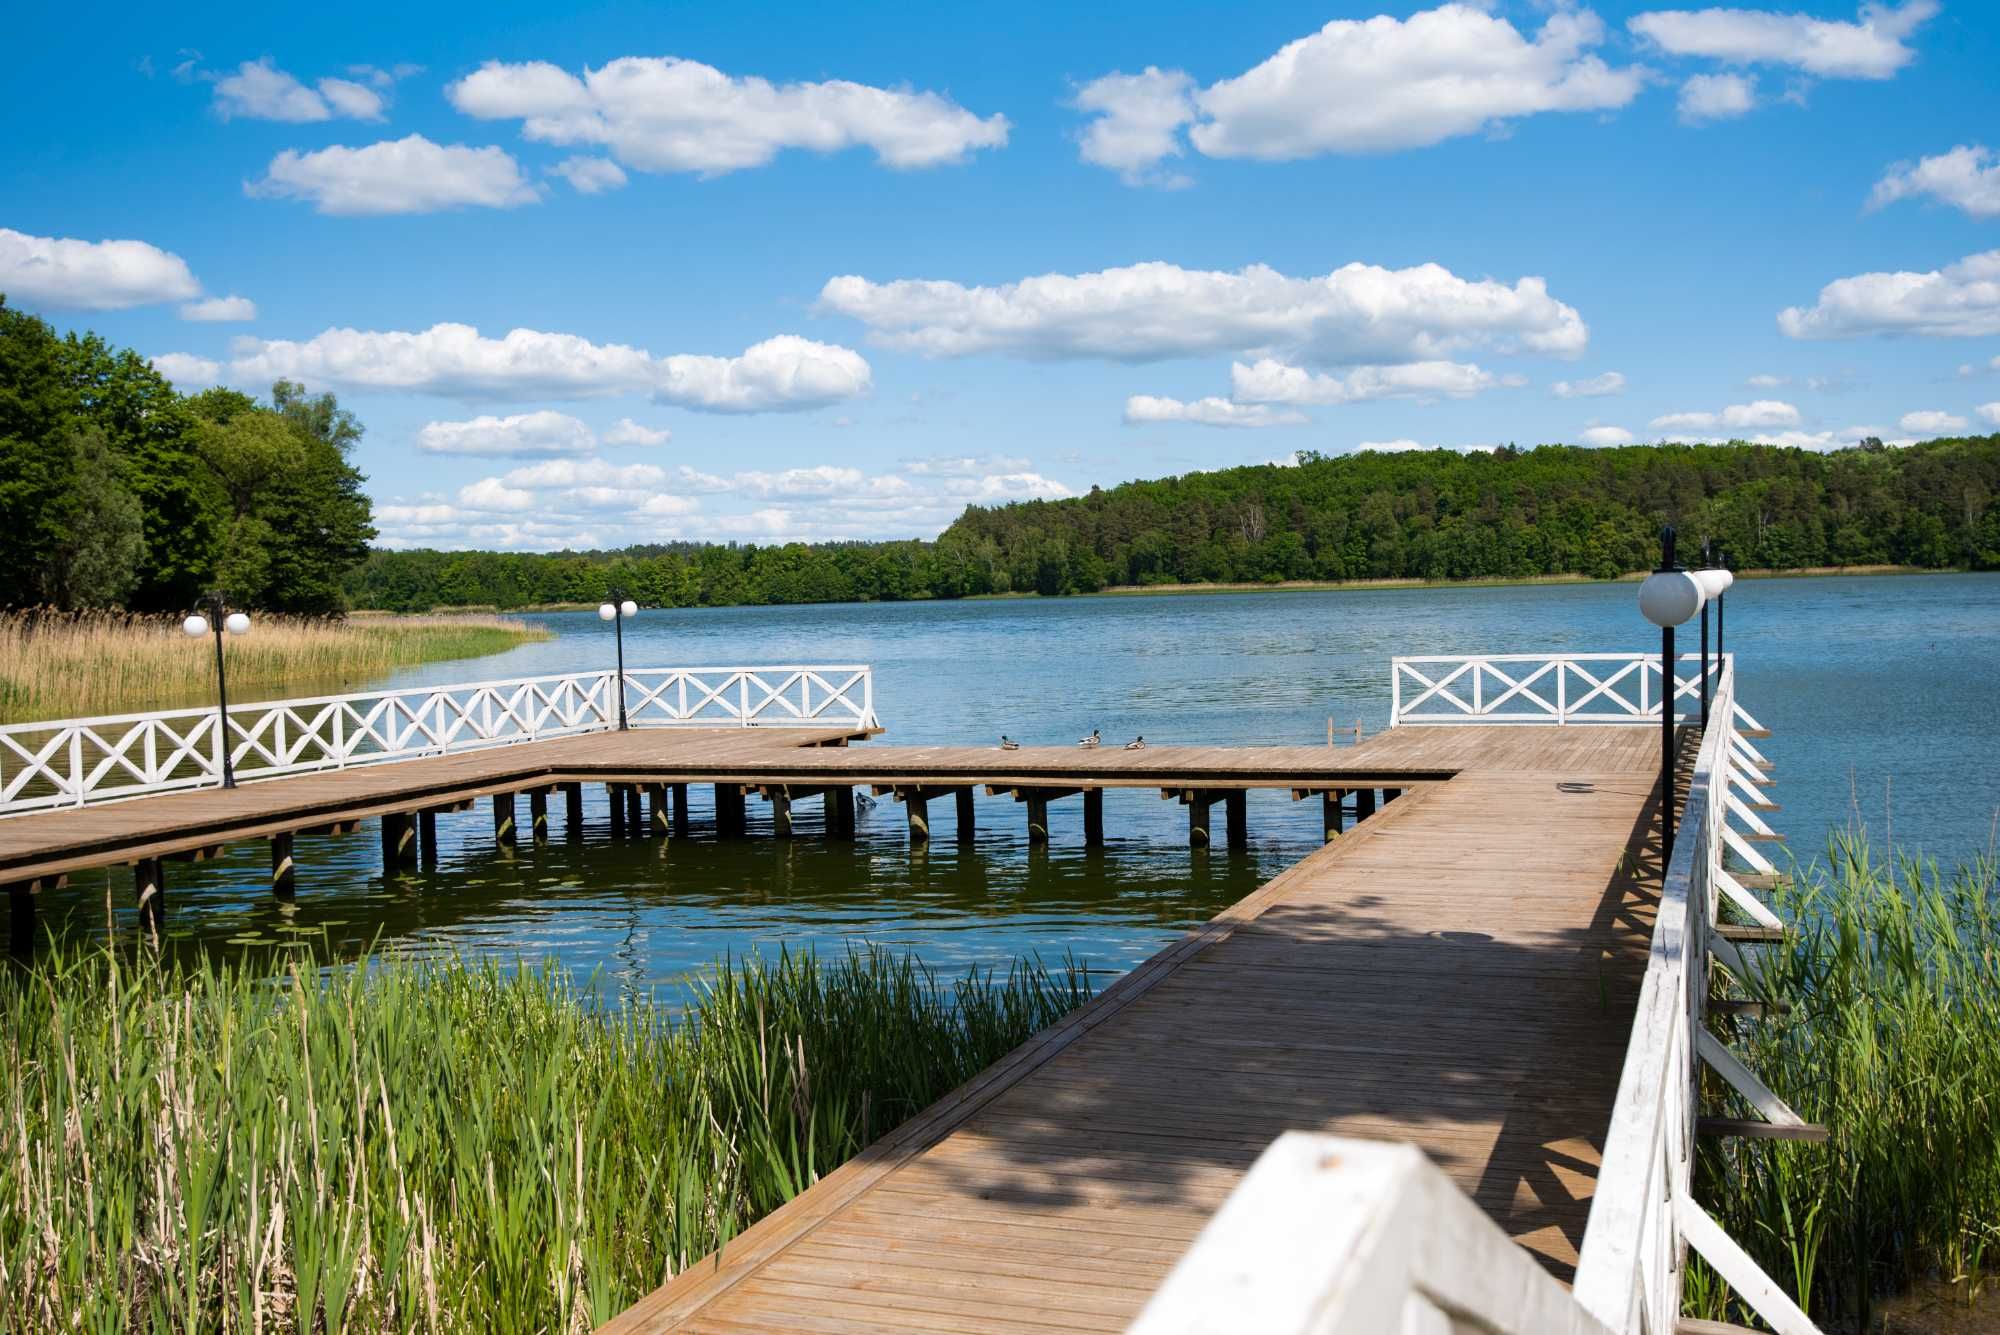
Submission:
<svg viewBox="0 0 2000 1335">
<path fill-rule="evenodd" d="M 622 552 L 370 552 L 356 606 L 806 604 L 1076 594 L 1112 584 L 1614 578 L 1714 538 L 1736 568 L 2000 570 L 2000 436 L 1818 454 L 1542 446 L 1304 456 L 968 508 L 936 542 Z"/>
</svg>

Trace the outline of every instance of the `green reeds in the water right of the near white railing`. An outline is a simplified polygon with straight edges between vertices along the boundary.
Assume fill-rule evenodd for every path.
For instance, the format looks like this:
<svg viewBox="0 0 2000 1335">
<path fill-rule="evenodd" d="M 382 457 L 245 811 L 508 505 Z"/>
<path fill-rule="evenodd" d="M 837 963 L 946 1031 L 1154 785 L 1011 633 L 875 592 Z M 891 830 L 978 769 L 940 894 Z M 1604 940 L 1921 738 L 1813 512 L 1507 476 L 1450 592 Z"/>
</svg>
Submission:
<svg viewBox="0 0 2000 1335">
<path fill-rule="evenodd" d="M 2000 1257 L 2000 863 L 1876 861 L 1836 835 L 1776 907 L 1796 931 L 1746 991 L 1792 1013 L 1732 1045 L 1832 1141 L 1708 1141 L 1698 1199 L 1828 1329 L 1870 1329 L 1918 1283 L 1976 1293 Z M 1688 1299 L 1734 1307 L 1698 1263 Z"/>
</svg>

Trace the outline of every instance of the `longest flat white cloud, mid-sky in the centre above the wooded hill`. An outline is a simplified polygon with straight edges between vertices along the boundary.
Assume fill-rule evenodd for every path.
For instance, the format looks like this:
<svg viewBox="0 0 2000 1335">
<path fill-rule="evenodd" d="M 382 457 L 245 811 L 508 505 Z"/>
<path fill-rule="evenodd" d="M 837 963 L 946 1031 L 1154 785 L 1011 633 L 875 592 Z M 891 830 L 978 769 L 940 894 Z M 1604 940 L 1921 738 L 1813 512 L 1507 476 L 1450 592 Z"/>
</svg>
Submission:
<svg viewBox="0 0 2000 1335">
<path fill-rule="evenodd" d="M 852 316 L 890 348 L 926 356 L 1148 362 L 1212 352 L 1286 352 L 1314 366 L 1424 362 L 1470 346 L 1576 356 L 1584 318 L 1540 278 L 1466 280 L 1440 264 L 1348 264 L 1288 278 L 1146 262 L 1042 274 L 996 288 L 944 280 L 832 278 L 820 308 Z"/>
</svg>

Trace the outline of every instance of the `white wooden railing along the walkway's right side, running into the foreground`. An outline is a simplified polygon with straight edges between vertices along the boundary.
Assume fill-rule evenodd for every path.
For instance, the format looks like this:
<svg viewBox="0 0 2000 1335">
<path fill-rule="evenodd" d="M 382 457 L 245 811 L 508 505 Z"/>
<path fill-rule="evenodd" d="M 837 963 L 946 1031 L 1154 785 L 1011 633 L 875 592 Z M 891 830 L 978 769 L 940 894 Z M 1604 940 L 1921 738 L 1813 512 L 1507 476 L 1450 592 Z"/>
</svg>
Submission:
<svg viewBox="0 0 2000 1335">
<path fill-rule="evenodd" d="M 1610 654 L 1396 660 L 1398 675 L 1406 662 L 1630 660 Z M 1652 717 L 1658 727 L 1658 703 Z M 1748 771 L 1764 757 L 1740 733 L 1740 727 L 1760 729 L 1736 703 L 1730 664 L 1712 681 L 1710 719 L 1666 867 L 1574 1287 L 1564 1293 L 1414 1147 L 1294 1131 L 1264 1151 L 1154 1293 L 1134 1331 L 1672 1335 L 1692 1247 L 1774 1331 L 1818 1335 L 1690 1191 L 1702 1063 L 1768 1121 L 1802 1125 L 1704 1023 L 1710 955 L 1738 973 L 1756 967 L 1746 949 L 1712 935 L 1720 901 L 1728 897 L 1760 925 L 1778 925 L 1724 865 L 1730 849 L 1754 871 L 1772 869 L 1728 823 L 1734 817 L 1752 833 L 1768 833 L 1744 801 Z M 1454 721 L 1516 719 L 1468 711 Z"/>
</svg>

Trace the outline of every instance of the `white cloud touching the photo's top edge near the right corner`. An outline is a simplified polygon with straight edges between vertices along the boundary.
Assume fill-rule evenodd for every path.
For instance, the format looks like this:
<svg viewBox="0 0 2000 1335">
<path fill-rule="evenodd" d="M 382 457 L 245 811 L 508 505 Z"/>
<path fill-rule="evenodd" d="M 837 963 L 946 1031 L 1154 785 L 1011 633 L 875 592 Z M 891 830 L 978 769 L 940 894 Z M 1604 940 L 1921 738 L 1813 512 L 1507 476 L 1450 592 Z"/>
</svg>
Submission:
<svg viewBox="0 0 2000 1335">
<path fill-rule="evenodd" d="M 1936 0 L 1864 4 L 1854 22 L 1770 10 L 1654 10 L 1628 26 L 1672 56 L 1790 66 L 1820 78 L 1892 78 L 1916 56 L 1906 38 L 1936 12 Z"/>
</svg>

